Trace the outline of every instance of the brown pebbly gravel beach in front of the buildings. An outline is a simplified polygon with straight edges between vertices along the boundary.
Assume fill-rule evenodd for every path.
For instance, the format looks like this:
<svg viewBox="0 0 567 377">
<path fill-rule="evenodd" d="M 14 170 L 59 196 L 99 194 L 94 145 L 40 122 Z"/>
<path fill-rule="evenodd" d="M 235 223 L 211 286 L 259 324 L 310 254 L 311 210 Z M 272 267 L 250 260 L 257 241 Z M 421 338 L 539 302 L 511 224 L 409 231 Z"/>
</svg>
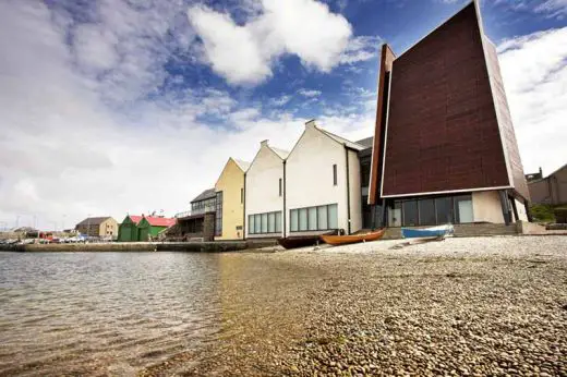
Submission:
<svg viewBox="0 0 567 377">
<path fill-rule="evenodd" d="M 184 374 L 567 376 L 566 236 L 399 243 L 222 255 Z"/>
</svg>

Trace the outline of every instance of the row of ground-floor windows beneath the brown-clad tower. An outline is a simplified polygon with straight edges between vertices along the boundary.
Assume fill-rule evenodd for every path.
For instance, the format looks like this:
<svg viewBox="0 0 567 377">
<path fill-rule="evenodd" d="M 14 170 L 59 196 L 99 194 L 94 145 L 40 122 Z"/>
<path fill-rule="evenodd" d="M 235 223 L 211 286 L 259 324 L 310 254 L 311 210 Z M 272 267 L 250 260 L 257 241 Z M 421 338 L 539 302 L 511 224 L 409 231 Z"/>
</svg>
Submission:
<svg viewBox="0 0 567 377">
<path fill-rule="evenodd" d="M 472 197 L 469 194 L 396 200 L 388 214 L 390 227 L 472 222 Z"/>
</svg>

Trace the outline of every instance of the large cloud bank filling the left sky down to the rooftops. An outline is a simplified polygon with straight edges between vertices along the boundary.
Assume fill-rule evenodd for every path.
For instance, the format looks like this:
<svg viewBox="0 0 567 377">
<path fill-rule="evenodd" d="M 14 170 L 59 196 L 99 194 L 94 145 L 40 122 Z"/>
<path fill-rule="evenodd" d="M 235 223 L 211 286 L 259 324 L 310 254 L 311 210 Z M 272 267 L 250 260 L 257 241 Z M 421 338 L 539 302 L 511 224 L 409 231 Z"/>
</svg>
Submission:
<svg viewBox="0 0 567 377">
<path fill-rule="evenodd" d="M 119 1 L 86 24 L 40 2 L 0 2 L 0 222 L 61 228 L 64 219 L 69 228 L 88 214 L 173 215 L 215 183 L 229 156 L 250 160 L 265 138 L 292 146 L 303 119 L 267 118 L 226 92 L 145 98 L 167 78 L 171 50 L 185 46 L 181 37 L 167 45 L 176 32 L 158 14 L 172 22 Z M 87 32 L 73 34 L 80 25 Z M 209 115 L 224 124 L 200 120 Z"/>
</svg>

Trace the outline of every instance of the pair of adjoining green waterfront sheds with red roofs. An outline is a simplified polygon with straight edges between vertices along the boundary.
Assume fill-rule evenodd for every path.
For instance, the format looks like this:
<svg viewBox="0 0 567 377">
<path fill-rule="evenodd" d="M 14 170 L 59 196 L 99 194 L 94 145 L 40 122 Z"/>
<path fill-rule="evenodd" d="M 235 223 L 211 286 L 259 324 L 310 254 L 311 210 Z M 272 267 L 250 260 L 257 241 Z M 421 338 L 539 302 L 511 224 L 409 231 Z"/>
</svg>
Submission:
<svg viewBox="0 0 567 377">
<path fill-rule="evenodd" d="M 146 242 L 176 223 L 176 219 L 128 215 L 118 228 L 119 242 Z"/>
</svg>

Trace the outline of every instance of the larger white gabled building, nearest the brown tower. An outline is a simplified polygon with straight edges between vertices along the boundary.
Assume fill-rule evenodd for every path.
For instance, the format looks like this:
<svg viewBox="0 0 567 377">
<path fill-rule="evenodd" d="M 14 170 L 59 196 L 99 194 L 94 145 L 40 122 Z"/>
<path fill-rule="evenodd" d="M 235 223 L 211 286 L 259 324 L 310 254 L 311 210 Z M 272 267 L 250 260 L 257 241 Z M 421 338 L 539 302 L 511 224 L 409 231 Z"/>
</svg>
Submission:
<svg viewBox="0 0 567 377">
<path fill-rule="evenodd" d="M 315 125 L 305 131 L 286 159 L 285 236 L 342 229 L 350 234 L 362 228 L 362 145 Z"/>
</svg>

